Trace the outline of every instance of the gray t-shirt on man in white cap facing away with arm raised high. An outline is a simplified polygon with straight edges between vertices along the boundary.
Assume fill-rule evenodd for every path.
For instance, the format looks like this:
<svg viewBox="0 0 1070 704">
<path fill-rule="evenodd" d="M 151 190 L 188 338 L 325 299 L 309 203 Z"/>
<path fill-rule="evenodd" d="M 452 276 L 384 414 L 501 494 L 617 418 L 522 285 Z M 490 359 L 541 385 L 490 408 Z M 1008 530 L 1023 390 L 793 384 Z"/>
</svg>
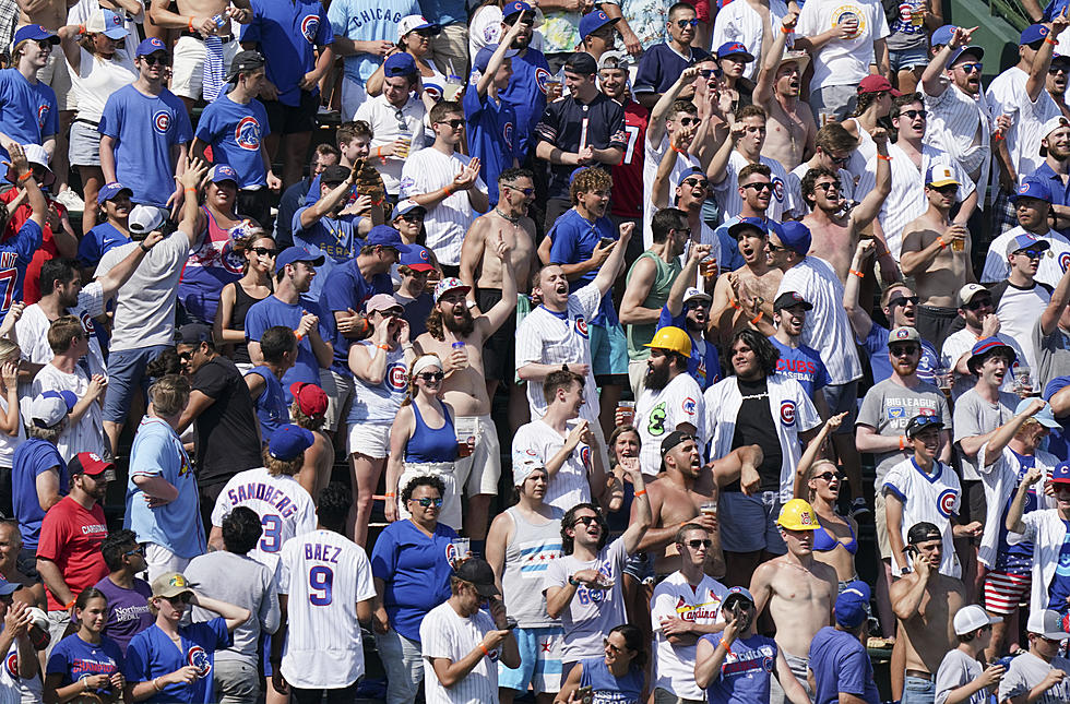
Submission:
<svg viewBox="0 0 1070 704">
<path fill-rule="evenodd" d="M 107 274 L 135 247 L 140 247 L 140 242 L 109 249 L 97 264 L 96 276 Z M 169 235 L 145 254 L 116 297 L 111 351 L 175 344 L 178 279 L 189 255 L 190 240 L 182 231 Z"/>
</svg>

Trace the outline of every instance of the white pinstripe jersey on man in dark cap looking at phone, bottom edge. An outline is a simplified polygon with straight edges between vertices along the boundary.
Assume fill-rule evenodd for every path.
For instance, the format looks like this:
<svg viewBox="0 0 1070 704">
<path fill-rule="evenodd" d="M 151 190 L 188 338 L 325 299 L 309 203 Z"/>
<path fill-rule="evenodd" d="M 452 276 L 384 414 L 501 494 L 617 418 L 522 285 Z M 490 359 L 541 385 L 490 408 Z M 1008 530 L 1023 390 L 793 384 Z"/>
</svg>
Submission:
<svg viewBox="0 0 1070 704">
<path fill-rule="evenodd" d="M 457 663 L 472 653 L 495 630 L 495 622 L 486 611 L 476 611 L 463 618 L 449 601 L 431 609 L 420 623 L 420 646 L 424 654 L 424 694 L 427 704 L 497 704 L 498 660 L 501 646 L 490 655 L 479 658 L 476 666 L 453 687 L 439 682 L 432 658 L 447 658 Z"/>
</svg>

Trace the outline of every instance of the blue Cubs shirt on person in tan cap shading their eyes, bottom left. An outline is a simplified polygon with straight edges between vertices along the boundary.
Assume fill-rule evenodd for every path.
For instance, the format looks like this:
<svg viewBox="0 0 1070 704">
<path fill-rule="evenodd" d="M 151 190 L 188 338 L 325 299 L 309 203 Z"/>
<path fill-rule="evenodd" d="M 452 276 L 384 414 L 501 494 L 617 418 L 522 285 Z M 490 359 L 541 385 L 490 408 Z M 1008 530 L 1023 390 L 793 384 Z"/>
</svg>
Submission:
<svg viewBox="0 0 1070 704">
<path fill-rule="evenodd" d="M 215 652 L 230 646 L 230 633 L 223 617 L 203 623 L 191 623 L 178 629 L 179 646 L 170 636 L 153 624 L 133 636 L 127 648 L 127 661 L 122 673 L 131 684 L 152 682 L 160 675 L 169 675 L 186 666 L 198 669 L 198 678 L 190 684 L 168 684 L 146 702 L 182 702 L 209 704 L 215 701 L 213 672 Z"/>
</svg>

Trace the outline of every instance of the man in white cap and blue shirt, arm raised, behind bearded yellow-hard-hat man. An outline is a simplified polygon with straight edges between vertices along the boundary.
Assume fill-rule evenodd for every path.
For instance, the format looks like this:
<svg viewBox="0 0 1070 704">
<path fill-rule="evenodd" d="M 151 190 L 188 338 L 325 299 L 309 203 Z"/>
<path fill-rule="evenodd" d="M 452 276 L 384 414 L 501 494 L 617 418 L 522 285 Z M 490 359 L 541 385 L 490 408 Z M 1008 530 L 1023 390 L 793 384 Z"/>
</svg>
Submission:
<svg viewBox="0 0 1070 704">
<path fill-rule="evenodd" d="M 658 330 L 674 326 L 688 334 L 688 339 L 691 341 L 688 373 L 698 382 L 702 391 L 721 380 L 721 357 L 717 355 L 717 346 L 705 338 L 706 325 L 710 322 L 711 296 L 689 284 L 694 281 L 699 262 L 705 259 L 709 252 L 709 244 L 696 244 L 691 248 L 687 263 L 680 271 L 680 275 L 673 282 L 668 300 L 665 301 L 662 313 L 657 318 Z"/>
</svg>

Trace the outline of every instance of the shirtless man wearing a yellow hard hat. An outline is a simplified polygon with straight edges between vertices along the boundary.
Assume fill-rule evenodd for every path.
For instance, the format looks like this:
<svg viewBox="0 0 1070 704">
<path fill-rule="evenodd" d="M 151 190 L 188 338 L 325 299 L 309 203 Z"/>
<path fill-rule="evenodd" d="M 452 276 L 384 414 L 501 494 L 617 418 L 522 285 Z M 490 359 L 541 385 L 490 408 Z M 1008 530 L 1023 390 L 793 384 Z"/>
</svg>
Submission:
<svg viewBox="0 0 1070 704">
<path fill-rule="evenodd" d="M 832 607 L 839 582 L 835 569 L 813 559 L 813 532 L 818 528 L 818 520 L 809 503 L 792 499 L 781 509 L 776 525 L 787 552 L 754 570 L 750 593 L 754 595 L 757 616 L 769 606 L 769 614 L 776 625 L 776 644 L 796 679 L 802 683 L 807 681 L 810 642 L 818 631 L 833 623 Z M 783 689 L 773 685 L 769 701 L 771 704 L 784 702 Z"/>
</svg>

